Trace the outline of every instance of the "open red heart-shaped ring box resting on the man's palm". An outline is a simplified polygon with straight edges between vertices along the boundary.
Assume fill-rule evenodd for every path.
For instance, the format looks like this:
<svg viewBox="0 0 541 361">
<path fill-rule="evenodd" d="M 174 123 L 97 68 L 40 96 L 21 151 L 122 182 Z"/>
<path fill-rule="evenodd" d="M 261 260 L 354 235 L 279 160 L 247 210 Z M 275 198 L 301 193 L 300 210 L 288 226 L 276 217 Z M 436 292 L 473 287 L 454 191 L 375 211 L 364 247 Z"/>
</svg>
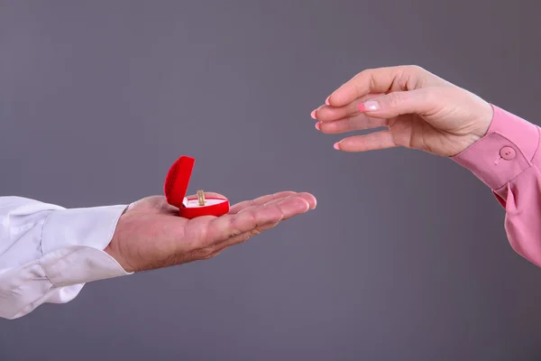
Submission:
<svg viewBox="0 0 541 361">
<path fill-rule="evenodd" d="M 194 158 L 182 155 L 171 165 L 164 184 L 165 199 L 171 206 L 179 208 L 182 218 L 225 215 L 229 212 L 228 199 L 205 197 L 205 205 L 200 206 L 197 196 L 186 197 L 195 162 Z"/>
</svg>

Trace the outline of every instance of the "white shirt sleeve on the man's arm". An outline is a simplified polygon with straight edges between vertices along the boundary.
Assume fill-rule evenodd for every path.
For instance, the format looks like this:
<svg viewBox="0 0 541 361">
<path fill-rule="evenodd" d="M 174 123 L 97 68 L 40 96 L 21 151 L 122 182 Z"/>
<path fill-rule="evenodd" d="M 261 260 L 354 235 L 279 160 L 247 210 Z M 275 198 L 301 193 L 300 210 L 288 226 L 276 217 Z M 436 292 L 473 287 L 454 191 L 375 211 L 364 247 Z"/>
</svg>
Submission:
<svg viewBox="0 0 541 361">
<path fill-rule="evenodd" d="M 86 282 L 131 274 L 103 251 L 126 207 L 66 209 L 0 197 L 0 318 L 66 303 Z"/>
</svg>

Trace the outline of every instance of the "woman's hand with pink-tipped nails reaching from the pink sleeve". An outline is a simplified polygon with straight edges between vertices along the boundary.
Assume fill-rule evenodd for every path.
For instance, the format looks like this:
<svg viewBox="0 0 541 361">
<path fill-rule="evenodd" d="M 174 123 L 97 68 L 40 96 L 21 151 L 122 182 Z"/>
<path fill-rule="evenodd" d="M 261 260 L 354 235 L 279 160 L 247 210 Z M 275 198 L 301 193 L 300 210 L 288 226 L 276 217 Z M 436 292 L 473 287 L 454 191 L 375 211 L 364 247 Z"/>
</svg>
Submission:
<svg viewBox="0 0 541 361">
<path fill-rule="evenodd" d="M 312 112 L 326 134 L 387 127 L 335 143 L 344 152 L 396 146 L 454 156 L 487 133 L 492 106 L 417 66 L 367 69 Z"/>
</svg>

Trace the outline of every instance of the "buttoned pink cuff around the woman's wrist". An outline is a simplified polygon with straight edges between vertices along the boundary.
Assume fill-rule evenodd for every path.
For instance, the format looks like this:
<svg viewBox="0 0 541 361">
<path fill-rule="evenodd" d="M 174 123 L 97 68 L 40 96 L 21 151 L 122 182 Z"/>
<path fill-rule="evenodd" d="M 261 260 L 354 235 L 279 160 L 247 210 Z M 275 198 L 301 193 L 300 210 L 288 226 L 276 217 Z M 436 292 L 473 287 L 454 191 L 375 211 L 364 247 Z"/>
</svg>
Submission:
<svg viewBox="0 0 541 361">
<path fill-rule="evenodd" d="M 492 106 L 494 116 L 485 136 L 452 157 L 491 190 L 498 190 L 531 166 L 539 145 L 539 128 Z"/>
</svg>

